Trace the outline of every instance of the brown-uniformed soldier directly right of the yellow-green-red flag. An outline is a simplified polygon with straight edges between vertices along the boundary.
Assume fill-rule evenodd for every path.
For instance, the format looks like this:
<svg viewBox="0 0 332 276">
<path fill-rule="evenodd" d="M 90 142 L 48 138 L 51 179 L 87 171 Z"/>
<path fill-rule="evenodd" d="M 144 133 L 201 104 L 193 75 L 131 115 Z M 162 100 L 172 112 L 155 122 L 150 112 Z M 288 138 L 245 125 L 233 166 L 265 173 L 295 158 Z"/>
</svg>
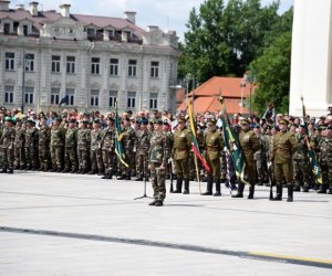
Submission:
<svg viewBox="0 0 332 276">
<path fill-rule="evenodd" d="M 204 147 L 206 149 L 205 159 L 210 168 L 207 172 L 207 189 L 203 195 L 212 195 L 214 180 L 216 183 L 215 197 L 221 195 L 220 178 L 221 178 L 221 163 L 220 153 L 225 147 L 221 132 L 216 128 L 216 120 L 210 119 L 207 124 L 207 132 L 204 136 Z"/>
</svg>

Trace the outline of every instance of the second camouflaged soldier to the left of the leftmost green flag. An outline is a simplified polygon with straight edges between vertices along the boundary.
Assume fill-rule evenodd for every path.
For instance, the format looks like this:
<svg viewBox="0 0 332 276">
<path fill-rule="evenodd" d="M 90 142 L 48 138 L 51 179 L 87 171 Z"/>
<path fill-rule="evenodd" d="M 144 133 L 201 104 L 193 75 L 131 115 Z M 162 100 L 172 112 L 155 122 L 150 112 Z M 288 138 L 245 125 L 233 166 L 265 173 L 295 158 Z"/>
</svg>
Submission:
<svg viewBox="0 0 332 276">
<path fill-rule="evenodd" d="M 98 176 L 103 176 L 104 166 L 102 159 L 102 129 L 101 129 L 101 120 L 94 119 L 91 130 L 91 171 L 89 174 L 97 173 Z"/>
</svg>

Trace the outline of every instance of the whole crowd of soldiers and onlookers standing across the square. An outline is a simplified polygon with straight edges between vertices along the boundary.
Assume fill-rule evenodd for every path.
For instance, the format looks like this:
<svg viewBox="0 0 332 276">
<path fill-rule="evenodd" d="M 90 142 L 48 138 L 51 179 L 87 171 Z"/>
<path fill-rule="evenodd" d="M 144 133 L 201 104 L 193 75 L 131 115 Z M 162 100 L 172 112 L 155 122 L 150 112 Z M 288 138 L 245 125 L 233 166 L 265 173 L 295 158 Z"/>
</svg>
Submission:
<svg viewBox="0 0 332 276">
<path fill-rule="evenodd" d="M 246 183 L 248 199 L 253 199 L 256 184 L 276 185 L 277 195 L 271 200 L 277 201 L 282 200 L 284 185 L 288 201 L 293 200 L 293 191 L 314 189 L 332 194 L 331 107 L 318 119 L 276 115 L 271 105 L 262 118 L 235 114 L 230 127 L 237 132 L 238 144 L 225 140 L 228 138 L 222 131 L 222 116 L 218 112 L 195 117 L 198 148 L 206 161 L 203 166 L 191 148 L 193 131 L 186 114 L 128 110 L 120 116 L 120 134 L 115 113 L 62 109 L 37 114 L 29 109 L 22 114 L 17 108 L 1 107 L 1 173 L 33 170 L 98 174 L 103 179 L 149 179 L 155 198 L 149 204 L 157 206 L 166 198 L 167 178 L 176 180 L 172 192 L 184 194 L 189 193 L 189 183 L 197 178 L 207 182 L 203 195 L 221 195 L 221 183 L 237 189 L 234 198 L 243 197 Z M 245 178 L 235 166 L 232 151 L 237 146 L 245 157 Z M 312 169 L 312 153 L 319 171 Z"/>
</svg>

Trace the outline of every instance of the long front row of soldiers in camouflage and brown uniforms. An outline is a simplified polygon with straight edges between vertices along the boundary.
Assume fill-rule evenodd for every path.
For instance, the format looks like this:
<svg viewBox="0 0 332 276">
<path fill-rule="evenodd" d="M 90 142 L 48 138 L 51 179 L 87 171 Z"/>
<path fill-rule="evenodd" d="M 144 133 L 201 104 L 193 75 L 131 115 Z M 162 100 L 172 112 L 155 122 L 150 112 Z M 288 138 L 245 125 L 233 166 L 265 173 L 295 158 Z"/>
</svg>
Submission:
<svg viewBox="0 0 332 276">
<path fill-rule="evenodd" d="M 238 178 L 238 193 L 234 197 L 242 198 L 245 183 L 249 184 L 249 199 L 253 198 L 255 184 L 267 182 L 277 184 L 276 200 L 282 198 L 282 185 L 289 190 L 289 201 L 292 200 L 292 191 L 302 188 L 303 192 L 309 191 L 311 184 L 315 182 L 311 172 L 308 150 L 313 148 L 317 152 L 323 183 L 318 189 L 319 192 L 332 193 L 332 146 L 331 126 L 322 126 L 317 134 L 308 136 L 304 126 L 298 126 L 295 132 L 288 131 L 288 121 L 280 121 L 279 128 L 249 127 L 250 121 L 242 119 L 240 126 L 236 128 L 239 141 L 246 159 L 246 178 Z M 28 119 L 21 121 L 7 117 L 4 127 L 0 127 L 1 172 L 12 173 L 13 169 L 31 169 L 43 171 L 72 172 L 72 173 L 98 173 L 104 179 L 111 179 L 118 174 L 120 179 L 129 180 L 133 172 L 136 180 L 143 180 L 149 171 L 153 181 L 165 182 L 165 177 L 172 174 L 174 170 L 176 177 L 176 190 L 180 193 L 184 185 L 184 193 L 189 193 L 189 180 L 193 171 L 198 171 L 199 177 L 207 180 L 207 191 L 204 195 L 212 194 L 212 185 L 216 184 L 215 195 L 221 194 L 220 183 L 227 179 L 235 185 L 236 173 L 231 158 L 231 150 L 225 149 L 222 132 L 217 129 L 216 120 L 210 119 L 206 128 L 197 130 L 197 140 L 200 151 L 204 151 L 209 170 L 201 166 L 195 166 L 194 152 L 191 151 L 191 135 L 186 127 L 186 120 L 178 118 L 178 124 L 174 132 L 169 131 L 168 123 L 156 120 L 155 124 L 147 118 L 139 118 L 135 127 L 126 117 L 122 120 L 123 134 L 117 136 L 114 126 L 114 117 L 106 118 L 106 127 L 102 128 L 101 121 L 95 119 L 93 124 L 86 120 L 77 123 L 70 119 L 64 123 L 60 118 L 53 118 L 52 126 L 49 127 L 46 118 L 42 117 L 39 126 L 35 121 Z M 162 139 L 166 150 L 162 153 L 156 151 L 154 158 L 163 161 L 162 170 L 152 164 L 152 151 L 158 148 L 153 135 L 158 132 L 158 126 L 163 135 Z M 151 127 L 152 126 L 152 127 Z M 284 127 L 286 126 L 286 127 Z M 156 130 L 157 129 L 157 130 Z M 115 150 L 115 139 L 122 142 L 124 149 L 124 160 L 118 159 Z M 157 139 L 157 140 L 158 140 Z M 164 150 L 164 147 L 162 147 Z M 117 152 L 118 153 L 118 152 Z M 165 158 L 164 158 L 165 156 Z M 173 160 L 173 164 L 168 160 Z M 164 171 L 163 176 L 156 172 Z M 294 171 L 294 172 L 293 172 Z M 157 176 L 157 177 L 156 177 Z M 160 181 L 158 180 L 160 179 Z M 163 184 L 160 184 L 162 187 Z M 165 189 L 155 194 L 158 204 L 166 197 Z"/>
</svg>

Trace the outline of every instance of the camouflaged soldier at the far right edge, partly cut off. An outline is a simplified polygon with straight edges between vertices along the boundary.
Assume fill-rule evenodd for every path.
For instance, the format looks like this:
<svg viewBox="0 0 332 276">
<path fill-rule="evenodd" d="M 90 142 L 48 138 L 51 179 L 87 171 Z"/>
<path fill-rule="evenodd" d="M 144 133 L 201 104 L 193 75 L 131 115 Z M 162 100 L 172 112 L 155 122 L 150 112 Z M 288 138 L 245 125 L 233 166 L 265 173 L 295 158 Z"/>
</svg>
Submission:
<svg viewBox="0 0 332 276">
<path fill-rule="evenodd" d="M 332 125 L 323 130 L 323 138 L 321 139 L 318 150 L 320 151 L 320 167 L 322 172 L 322 185 L 318 193 L 332 194 Z"/>
</svg>

